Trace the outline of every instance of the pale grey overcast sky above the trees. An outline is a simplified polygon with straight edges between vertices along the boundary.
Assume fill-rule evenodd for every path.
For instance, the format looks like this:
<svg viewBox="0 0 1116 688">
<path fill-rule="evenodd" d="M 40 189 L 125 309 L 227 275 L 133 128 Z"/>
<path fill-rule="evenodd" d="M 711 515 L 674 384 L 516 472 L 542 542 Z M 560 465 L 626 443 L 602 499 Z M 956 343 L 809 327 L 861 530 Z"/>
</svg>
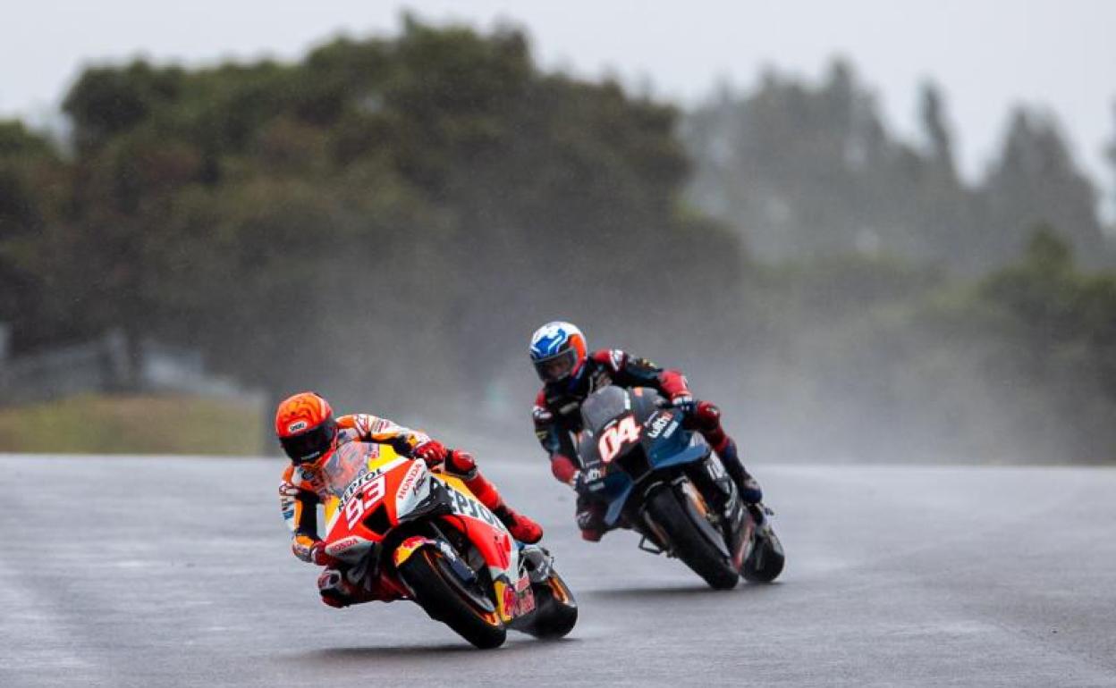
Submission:
<svg viewBox="0 0 1116 688">
<path fill-rule="evenodd" d="M 44 122 L 84 64 L 146 55 L 214 62 L 295 58 L 338 32 L 394 32 L 412 8 L 434 21 L 527 28 L 546 67 L 694 103 L 718 79 L 752 85 L 764 65 L 816 78 L 849 57 L 888 123 L 915 130 L 921 80 L 947 96 L 964 172 L 998 149 L 1008 109 L 1048 107 L 1078 159 L 1113 187 L 1101 148 L 1116 137 L 1113 0 L 4 0 L 0 115 Z"/>
</svg>

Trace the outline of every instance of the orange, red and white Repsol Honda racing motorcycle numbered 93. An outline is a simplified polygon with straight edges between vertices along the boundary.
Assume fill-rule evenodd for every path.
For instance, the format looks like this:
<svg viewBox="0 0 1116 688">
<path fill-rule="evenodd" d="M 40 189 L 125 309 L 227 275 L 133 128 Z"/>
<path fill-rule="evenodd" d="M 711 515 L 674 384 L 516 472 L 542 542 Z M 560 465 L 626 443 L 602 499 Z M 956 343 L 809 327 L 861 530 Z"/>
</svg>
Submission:
<svg viewBox="0 0 1116 688">
<path fill-rule="evenodd" d="M 560 638 L 577 622 L 574 594 L 539 546 L 512 539 L 465 484 L 385 445 L 347 443 L 326 462 L 325 551 L 386 581 L 478 648 L 507 629 Z"/>
</svg>

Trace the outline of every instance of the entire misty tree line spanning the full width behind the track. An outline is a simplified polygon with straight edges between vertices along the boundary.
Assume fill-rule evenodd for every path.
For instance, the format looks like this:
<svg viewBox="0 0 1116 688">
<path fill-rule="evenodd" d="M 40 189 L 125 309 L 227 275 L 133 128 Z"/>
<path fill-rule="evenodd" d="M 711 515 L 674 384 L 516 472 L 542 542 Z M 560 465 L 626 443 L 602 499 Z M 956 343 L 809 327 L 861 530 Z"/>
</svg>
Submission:
<svg viewBox="0 0 1116 688">
<path fill-rule="evenodd" d="M 963 184 L 942 101 L 925 149 L 843 65 L 685 114 L 413 19 L 90 67 L 65 142 L 0 124 L 0 321 L 17 352 L 118 327 L 276 396 L 527 433 L 526 338 L 562 318 L 691 371 L 772 461 L 1112 456 L 1095 192 L 1030 113 Z"/>
</svg>

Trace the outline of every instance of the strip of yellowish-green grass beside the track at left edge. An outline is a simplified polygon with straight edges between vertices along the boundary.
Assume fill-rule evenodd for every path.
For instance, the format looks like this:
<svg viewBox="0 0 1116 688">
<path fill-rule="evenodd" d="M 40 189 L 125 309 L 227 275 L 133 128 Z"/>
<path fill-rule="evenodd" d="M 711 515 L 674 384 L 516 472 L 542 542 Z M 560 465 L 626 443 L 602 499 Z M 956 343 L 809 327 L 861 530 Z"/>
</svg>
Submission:
<svg viewBox="0 0 1116 688">
<path fill-rule="evenodd" d="M 263 409 L 238 399 L 84 395 L 0 408 L 0 452 L 260 454 Z"/>
</svg>

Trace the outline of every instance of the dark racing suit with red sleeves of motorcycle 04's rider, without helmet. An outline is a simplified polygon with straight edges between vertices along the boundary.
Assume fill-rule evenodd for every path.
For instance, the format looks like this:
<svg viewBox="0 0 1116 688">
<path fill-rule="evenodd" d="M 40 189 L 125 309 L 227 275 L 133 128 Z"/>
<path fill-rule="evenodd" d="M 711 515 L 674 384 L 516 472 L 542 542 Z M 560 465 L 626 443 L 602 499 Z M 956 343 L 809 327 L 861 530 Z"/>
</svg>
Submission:
<svg viewBox="0 0 1116 688">
<path fill-rule="evenodd" d="M 740 461 L 737 443 L 721 427 L 720 409 L 709 401 L 695 400 L 681 371 L 663 369 L 619 349 L 602 349 L 587 357 L 585 369 L 576 378 L 547 382 L 536 397 L 532 411 L 535 433 L 550 456 L 551 473 L 578 490 L 577 524 L 585 540 L 600 540 L 606 530 L 605 506 L 580 490 L 581 462 L 574 434 L 581 429 L 581 403 L 606 385 L 651 387 L 670 399 L 685 413 L 683 426 L 700 432 L 716 453 L 741 498 L 747 503 L 762 500 L 759 484 Z"/>
</svg>

